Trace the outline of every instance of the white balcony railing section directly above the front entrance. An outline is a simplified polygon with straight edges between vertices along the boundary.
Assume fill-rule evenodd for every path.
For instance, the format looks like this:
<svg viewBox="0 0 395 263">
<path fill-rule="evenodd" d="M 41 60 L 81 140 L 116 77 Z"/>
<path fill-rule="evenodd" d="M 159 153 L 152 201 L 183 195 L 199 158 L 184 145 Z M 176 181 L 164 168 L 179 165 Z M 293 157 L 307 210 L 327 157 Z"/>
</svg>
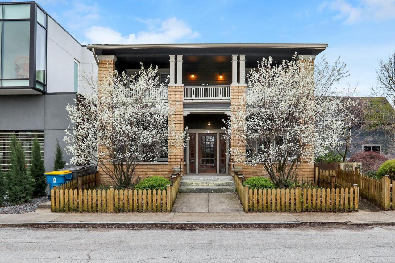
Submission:
<svg viewBox="0 0 395 263">
<path fill-rule="evenodd" d="M 185 86 L 184 100 L 230 100 L 230 86 Z"/>
</svg>

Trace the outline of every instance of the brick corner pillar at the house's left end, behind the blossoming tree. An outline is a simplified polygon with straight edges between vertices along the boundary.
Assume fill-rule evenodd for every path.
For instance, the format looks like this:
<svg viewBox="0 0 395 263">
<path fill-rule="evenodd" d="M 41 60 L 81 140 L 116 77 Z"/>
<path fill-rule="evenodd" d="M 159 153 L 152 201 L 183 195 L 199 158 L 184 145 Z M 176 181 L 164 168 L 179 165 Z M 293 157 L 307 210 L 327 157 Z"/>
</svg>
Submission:
<svg viewBox="0 0 395 263">
<path fill-rule="evenodd" d="M 98 65 L 98 84 L 105 85 L 108 83 L 109 78 L 113 76 L 115 71 L 115 62 L 117 61 L 117 57 L 114 55 L 98 55 L 99 65 Z M 101 93 L 101 90 L 98 90 Z M 102 152 L 103 146 L 98 146 L 98 152 Z M 99 180 L 102 184 L 112 184 L 112 179 L 107 176 L 103 169 L 98 167 L 99 172 Z"/>
</svg>

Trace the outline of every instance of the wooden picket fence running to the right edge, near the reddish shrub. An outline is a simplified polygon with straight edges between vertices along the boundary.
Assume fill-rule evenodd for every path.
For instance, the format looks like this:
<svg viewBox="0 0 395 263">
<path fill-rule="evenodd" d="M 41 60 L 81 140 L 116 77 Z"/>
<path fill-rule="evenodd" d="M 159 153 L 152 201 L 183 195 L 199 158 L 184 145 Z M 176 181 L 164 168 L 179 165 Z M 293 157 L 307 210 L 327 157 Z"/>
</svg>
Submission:
<svg viewBox="0 0 395 263">
<path fill-rule="evenodd" d="M 354 171 L 343 171 L 340 167 L 338 167 L 334 175 L 336 180 L 358 184 L 361 197 L 374 203 L 381 209 L 395 209 L 395 195 L 393 194 L 395 193 L 395 181 L 389 179 L 388 175 L 384 175 L 382 179 L 376 179 L 361 174 L 358 168 Z"/>
</svg>

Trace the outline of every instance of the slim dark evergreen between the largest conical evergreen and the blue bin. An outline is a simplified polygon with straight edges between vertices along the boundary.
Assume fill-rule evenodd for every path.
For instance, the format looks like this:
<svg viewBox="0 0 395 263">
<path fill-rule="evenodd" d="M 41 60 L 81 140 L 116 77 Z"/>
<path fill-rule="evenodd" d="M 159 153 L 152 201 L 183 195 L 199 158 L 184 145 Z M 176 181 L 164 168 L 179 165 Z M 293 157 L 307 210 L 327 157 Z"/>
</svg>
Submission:
<svg viewBox="0 0 395 263">
<path fill-rule="evenodd" d="M 32 163 L 30 165 L 30 176 L 36 181 L 33 196 L 45 196 L 47 190 L 47 178 L 44 175 L 44 161 L 41 158 L 41 148 L 38 139 L 34 139 L 32 148 Z"/>
</svg>

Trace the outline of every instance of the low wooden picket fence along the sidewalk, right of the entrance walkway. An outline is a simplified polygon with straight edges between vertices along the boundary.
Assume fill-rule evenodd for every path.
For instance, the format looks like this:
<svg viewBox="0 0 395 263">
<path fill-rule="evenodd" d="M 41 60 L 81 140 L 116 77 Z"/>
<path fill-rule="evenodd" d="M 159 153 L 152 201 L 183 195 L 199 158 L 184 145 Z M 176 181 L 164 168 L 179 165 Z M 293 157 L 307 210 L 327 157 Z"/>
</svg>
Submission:
<svg viewBox="0 0 395 263">
<path fill-rule="evenodd" d="M 358 186 L 350 188 L 287 188 L 249 189 L 241 178 L 234 176 L 236 192 L 244 211 L 302 212 L 302 211 L 357 211 Z"/>
</svg>

